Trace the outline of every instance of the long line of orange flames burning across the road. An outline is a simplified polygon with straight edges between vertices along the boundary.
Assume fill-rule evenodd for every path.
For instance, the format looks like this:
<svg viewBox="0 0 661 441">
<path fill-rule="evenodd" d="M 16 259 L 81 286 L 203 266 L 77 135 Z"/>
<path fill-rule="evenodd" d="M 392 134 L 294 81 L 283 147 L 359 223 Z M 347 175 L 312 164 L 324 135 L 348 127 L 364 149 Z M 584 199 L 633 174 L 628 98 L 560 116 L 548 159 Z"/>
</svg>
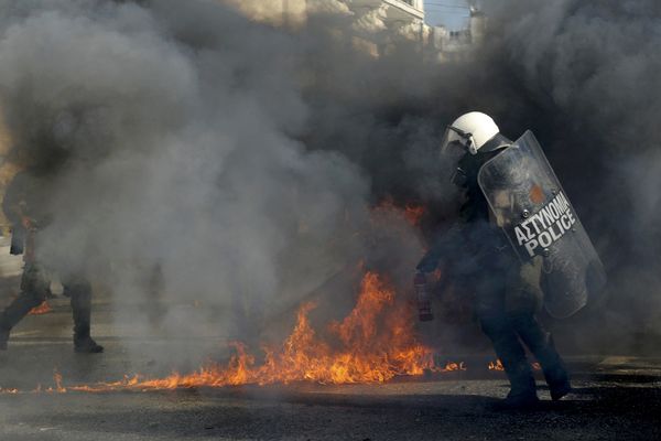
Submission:
<svg viewBox="0 0 661 441">
<path fill-rule="evenodd" d="M 174 373 L 158 379 L 136 375 L 113 383 L 67 387 L 57 374 L 56 387 L 47 391 L 383 383 L 395 376 L 465 370 L 463 363 L 435 365 L 432 349 L 415 337 L 413 311 L 407 302 L 395 303 L 394 290 L 375 272 L 364 276 L 356 306 L 343 321 L 332 322 L 325 337 L 311 323 L 314 308 L 313 303 L 300 308 L 293 332 L 280 347 L 264 347 L 261 363 L 243 344 L 235 343 L 236 354 L 226 365 L 208 365 L 192 374 Z"/>
</svg>

